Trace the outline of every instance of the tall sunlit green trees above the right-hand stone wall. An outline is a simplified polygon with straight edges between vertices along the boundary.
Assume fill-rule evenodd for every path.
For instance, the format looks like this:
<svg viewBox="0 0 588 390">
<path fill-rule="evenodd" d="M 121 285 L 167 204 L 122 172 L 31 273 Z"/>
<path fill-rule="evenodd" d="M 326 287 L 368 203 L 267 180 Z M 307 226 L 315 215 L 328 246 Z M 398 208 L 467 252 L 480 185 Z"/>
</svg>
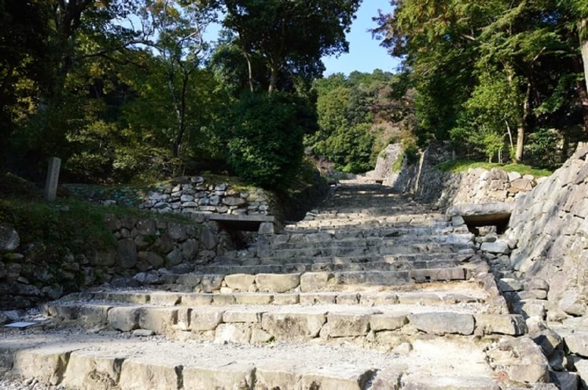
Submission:
<svg viewBox="0 0 588 390">
<path fill-rule="evenodd" d="M 522 161 L 529 133 L 585 116 L 577 39 L 554 2 L 392 4 L 374 32 L 411 75 L 422 141 L 466 139 L 489 158 L 510 149 Z"/>
</svg>

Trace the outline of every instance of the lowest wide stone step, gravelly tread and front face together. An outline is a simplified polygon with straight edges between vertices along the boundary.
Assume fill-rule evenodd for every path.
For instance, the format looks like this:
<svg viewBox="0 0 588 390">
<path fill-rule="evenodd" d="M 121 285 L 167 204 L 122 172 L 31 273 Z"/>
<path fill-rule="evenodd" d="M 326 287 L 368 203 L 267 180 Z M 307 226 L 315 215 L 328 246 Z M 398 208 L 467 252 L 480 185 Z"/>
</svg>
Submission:
<svg viewBox="0 0 588 390">
<path fill-rule="evenodd" d="M 347 346 L 275 343 L 235 346 L 121 339 L 104 335 L 24 335 L 0 342 L 12 375 L 88 390 L 495 390 L 484 344 L 414 339 L 395 354 Z M 443 351 L 442 354 L 439 351 Z M 450 356 L 450 359 L 447 359 Z"/>
</svg>

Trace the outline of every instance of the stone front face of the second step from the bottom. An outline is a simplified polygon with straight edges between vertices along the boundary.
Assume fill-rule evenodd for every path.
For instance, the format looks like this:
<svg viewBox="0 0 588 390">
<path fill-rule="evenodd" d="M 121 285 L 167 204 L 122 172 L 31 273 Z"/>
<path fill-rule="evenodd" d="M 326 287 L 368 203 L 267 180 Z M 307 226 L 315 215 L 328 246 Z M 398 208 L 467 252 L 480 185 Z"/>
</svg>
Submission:
<svg viewBox="0 0 588 390">
<path fill-rule="evenodd" d="M 308 309 L 308 308 L 306 308 Z M 415 314 L 331 312 L 270 312 L 236 309 L 173 308 L 111 305 L 45 305 L 45 315 L 83 328 L 108 327 L 121 332 L 147 329 L 159 335 L 193 332 L 215 342 L 263 344 L 277 341 L 363 338 L 365 342 L 390 341 L 390 335 L 510 335 L 528 332 L 519 314 L 462 314 L 448 311 Z M 383 332 L 383 333 L 382 333 Z M 392 338 L 393 341 L 396 339 Z"/>
</svg>

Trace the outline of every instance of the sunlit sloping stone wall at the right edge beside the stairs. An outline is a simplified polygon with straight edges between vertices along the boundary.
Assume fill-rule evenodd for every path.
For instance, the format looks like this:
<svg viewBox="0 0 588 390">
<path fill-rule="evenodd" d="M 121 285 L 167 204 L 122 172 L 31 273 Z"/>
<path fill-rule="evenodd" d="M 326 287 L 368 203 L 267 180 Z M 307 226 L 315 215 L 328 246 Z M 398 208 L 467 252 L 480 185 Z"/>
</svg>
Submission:
<svg viewBox="0 0 588 390">
<path fill-rule="evenodd" d="M 506 237 L 515 275 L 549 284 L 548 318 L 588 313 L 588 147 L 517 199 Z"/>
</svg>

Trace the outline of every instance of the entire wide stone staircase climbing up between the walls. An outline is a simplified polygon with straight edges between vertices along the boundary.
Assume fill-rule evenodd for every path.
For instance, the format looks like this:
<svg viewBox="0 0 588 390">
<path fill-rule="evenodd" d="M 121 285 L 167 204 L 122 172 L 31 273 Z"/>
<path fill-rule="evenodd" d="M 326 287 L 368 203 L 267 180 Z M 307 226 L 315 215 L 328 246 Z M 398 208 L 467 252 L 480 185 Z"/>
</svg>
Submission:
<svg viewBox="0 0 588 390">
<path fill-rule="evenodd" d="M 342 182 L 304 221 L 191 274 L 45 305 L 43 326 L 0 334 L 0 370 L 68 389 L 546 381 L 546 359 L 509 314 L 474 236 L 443 221 L 386 187 Z"/>
</svg>

